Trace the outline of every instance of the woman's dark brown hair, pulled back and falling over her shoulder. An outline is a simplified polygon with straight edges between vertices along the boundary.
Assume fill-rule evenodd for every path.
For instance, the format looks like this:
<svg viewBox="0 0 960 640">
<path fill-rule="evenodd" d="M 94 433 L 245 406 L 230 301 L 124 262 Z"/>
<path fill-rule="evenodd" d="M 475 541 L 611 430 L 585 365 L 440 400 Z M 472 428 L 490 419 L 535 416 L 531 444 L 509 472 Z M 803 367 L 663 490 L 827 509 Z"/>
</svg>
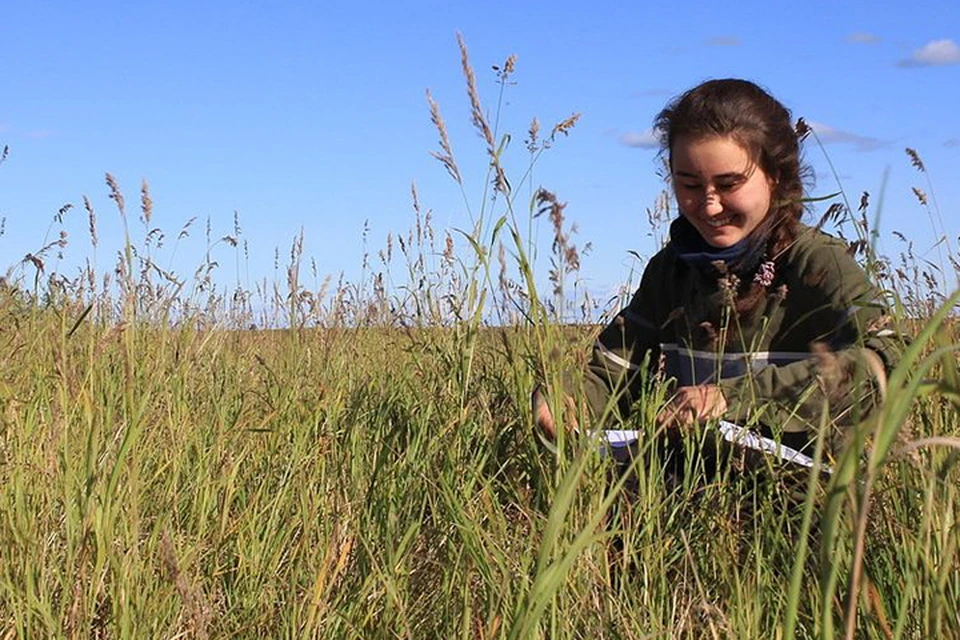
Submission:
<svg viewBox="0 0 960 640">
<path fill-rule="evenodd" d="M 729 137 L 744 148 L 774 183 L 770 210 L 751 235 L 753 242 L 764 246 L 764 260 L 776 263 L 796 239 L 804 211 L 804 182 L 810 175 L 801 161 L 789 109 L 747 80 L 708 80 L 674 98 L 657 115 L 654 130 L 668 159 L 681 136 Z M 756 307 L 769 286 L 749 283 L 738 297 L 737 311 Z"/>
</svg>

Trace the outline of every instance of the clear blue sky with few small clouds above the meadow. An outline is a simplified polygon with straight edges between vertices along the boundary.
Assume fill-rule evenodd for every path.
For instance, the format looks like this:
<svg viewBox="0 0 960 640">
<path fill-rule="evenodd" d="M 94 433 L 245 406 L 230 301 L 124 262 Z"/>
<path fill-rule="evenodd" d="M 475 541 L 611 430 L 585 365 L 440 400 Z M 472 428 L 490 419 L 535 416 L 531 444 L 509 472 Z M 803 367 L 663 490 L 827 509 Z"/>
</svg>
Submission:
<svg viewBox="0 0 960 640">
<path fill-rule="evenodd" d="M 526 169 L 522 140 L 581 114 L 544 154 L 532 186 L 568 203 L 584 277 L 598 292 L 626 277 L 629 251 L 649 255 L 645 210 L 662 182 L 650 122 L 673 95 L 711 77 L 768 87 L 816 123 L 851 200 L 879 200 L 884 247 L 897 230 L 928 250 L 930 216 L 911 192 L 929 191 L 904 153 L 929 170 L 945 231 L 960 231 L 960 12 L 954 1 L 805 3 L 560 2 L 6 2 L 0 9 L 0 251 L 5 265 L 36 251 L 65 203 L 68 273 L 92 256 L 81 198 L 98 215 L 97 262 L 109 268 L 121 231 L 104 173 L 123 189 L 135 237 L 142 179 L 163 259 L 189 275 L 203 228 L 232 233 L 239 215 L 249 260 L 242 280 L 274 277 L 301 228 L 321 274 L 355 277 L 364 251 L 413 224 L 410 184 L 438 227 L 467 228 L 467 206 L 429 151 L 437 149 L 425 90 L 449 127 L 476 210 L 483 144 L 471 128 L 455 34 L 469 48 L 494 113 L 491 65 L 517 55 L 501 131 L 513 142 L 511 178 Z M 814 195 L 837 189 L 808 148 Z M 526 187 L 524 187 L 526 188 Z M 173 251 L 183 224 L 190 237 Z M 541 229 L 542 241 L 547 229 Z M 216 247 L 226 282 L 235 252 Z M 930 255 L 933 255 L 932 253 Z M 541 265 L 545 271 L 545 263 Z M 244 284 L 246 283 L 244 282 Z"/>
</svg>

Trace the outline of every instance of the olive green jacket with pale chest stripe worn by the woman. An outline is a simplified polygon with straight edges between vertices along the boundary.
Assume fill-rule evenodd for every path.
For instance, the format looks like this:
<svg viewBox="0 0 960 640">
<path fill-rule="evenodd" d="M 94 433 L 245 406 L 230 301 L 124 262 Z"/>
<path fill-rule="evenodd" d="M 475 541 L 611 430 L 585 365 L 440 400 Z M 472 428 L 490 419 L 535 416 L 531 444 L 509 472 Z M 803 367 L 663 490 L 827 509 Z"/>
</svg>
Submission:
<svg viewBox="0 0 960 640">
<path fill-rule="evenodd" d="M 876 404 L 861 349 L 889 372 L 901 342 L 844 242 L 801 225 L 749 313 L 733 311 L 731 284 L 715 266 L 680 260 L 672 244 L 657 253 L 594 346 L 584 380 L 594 417 L 625 417 L 645 381 L 718 384 L 726 419 L 774 433 L 816 429 L 825 407 L 850 424 Z"/>
</svg>

